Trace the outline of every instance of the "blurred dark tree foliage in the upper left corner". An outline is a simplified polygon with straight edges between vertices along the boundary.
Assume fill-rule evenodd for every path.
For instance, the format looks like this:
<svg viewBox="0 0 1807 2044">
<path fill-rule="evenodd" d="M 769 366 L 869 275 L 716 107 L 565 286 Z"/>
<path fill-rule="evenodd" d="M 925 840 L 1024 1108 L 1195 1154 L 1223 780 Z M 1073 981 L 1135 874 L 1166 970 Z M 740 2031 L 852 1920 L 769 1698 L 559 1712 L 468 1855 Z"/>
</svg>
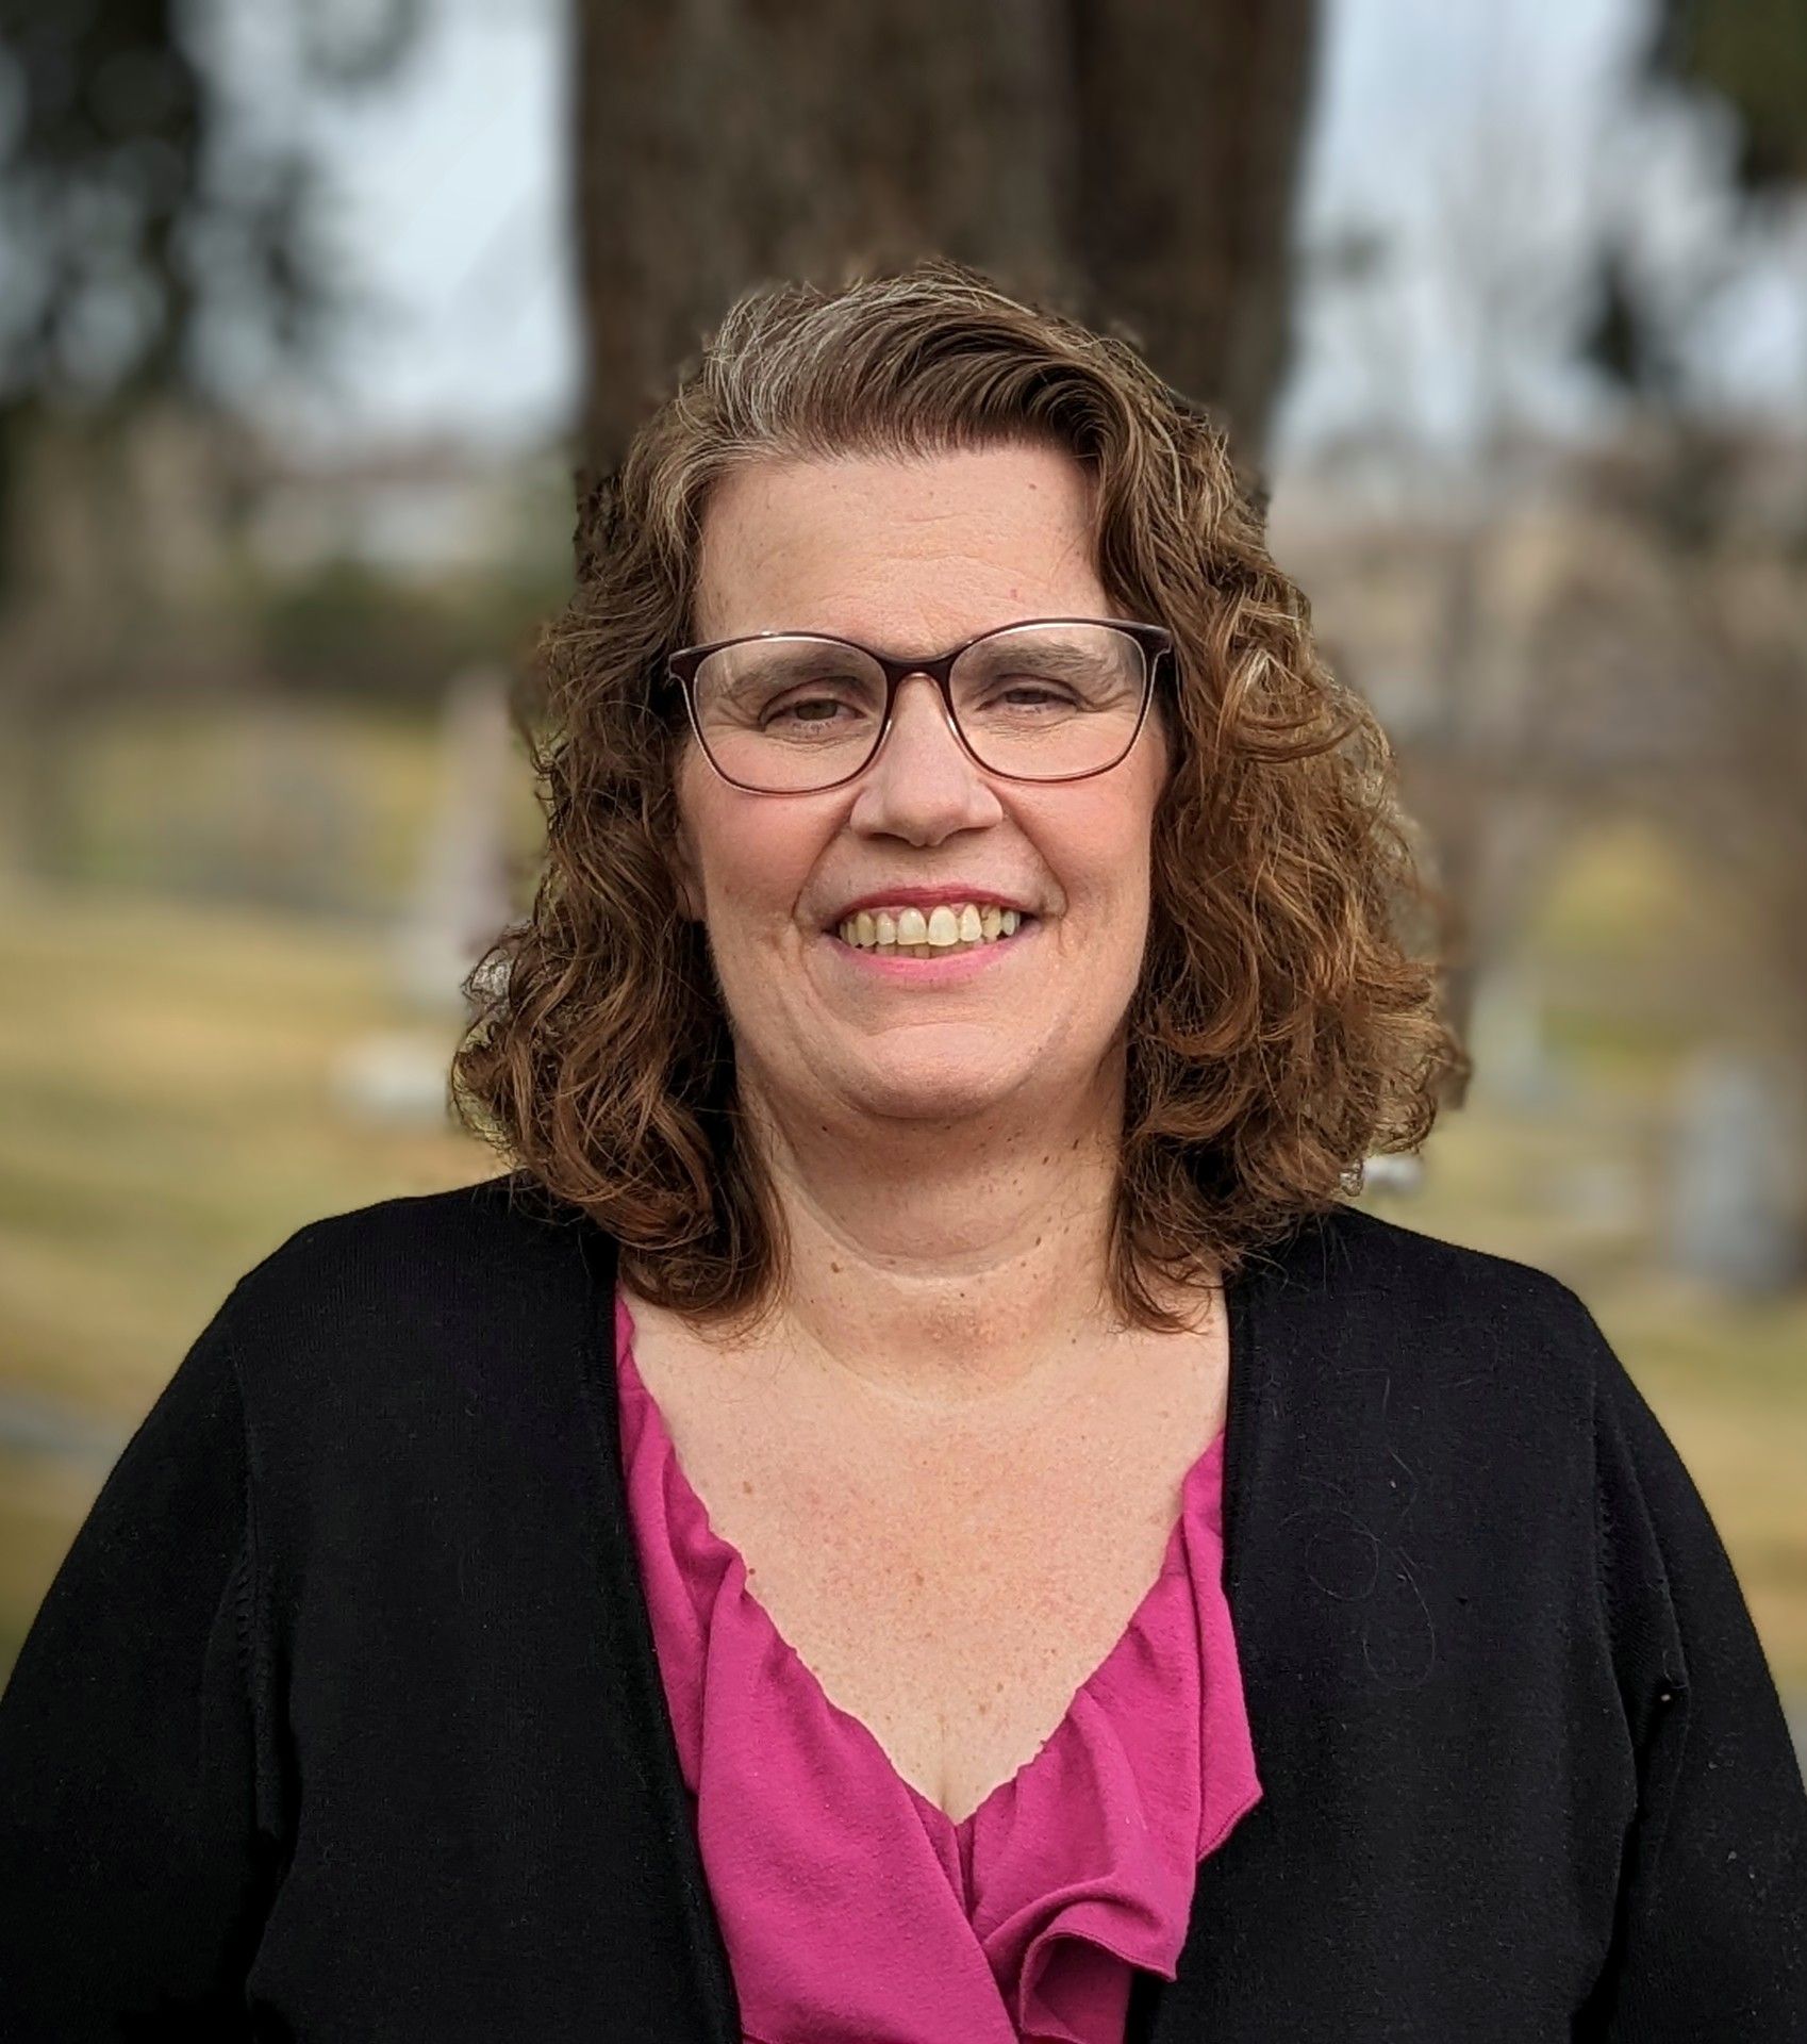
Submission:
<svg viewBox="0 0 1807 2044">
<path fill-rule="evenodd" d="M 27 863 L 57 830 L 59 726 L 106 691 L 112 636 L 143 621 L 135 423 L 217 409 L 247 352 L 296 360 L 341 307 L 319 166 L 268 90 L 274 59 L 325 90 L 374 84 L 425 6 L 0 0 L 0 828 Z M 20 642 L 16 615 L 27 517 L 55 517 L 20 489 L 47 446 L 76 525 L 104 540 L 82 548 L 88 587 L 51 652 Z"/>
</svg>

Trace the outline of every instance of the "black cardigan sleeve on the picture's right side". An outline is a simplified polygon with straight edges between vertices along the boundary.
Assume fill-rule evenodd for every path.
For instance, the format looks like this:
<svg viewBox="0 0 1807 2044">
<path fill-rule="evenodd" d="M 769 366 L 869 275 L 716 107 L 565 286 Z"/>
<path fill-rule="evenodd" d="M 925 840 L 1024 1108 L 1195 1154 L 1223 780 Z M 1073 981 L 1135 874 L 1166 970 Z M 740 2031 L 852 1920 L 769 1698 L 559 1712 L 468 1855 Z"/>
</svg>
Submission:
<svg viewBox="0 0 1807 2044">
<path fill-rule="evenodd" d="M 1637 1754 L 1609 2044 L 1807 2044 L 1807 1793 L 1707 1506 L 1588 1318 L 1601 1594 Z"/>
</svg>

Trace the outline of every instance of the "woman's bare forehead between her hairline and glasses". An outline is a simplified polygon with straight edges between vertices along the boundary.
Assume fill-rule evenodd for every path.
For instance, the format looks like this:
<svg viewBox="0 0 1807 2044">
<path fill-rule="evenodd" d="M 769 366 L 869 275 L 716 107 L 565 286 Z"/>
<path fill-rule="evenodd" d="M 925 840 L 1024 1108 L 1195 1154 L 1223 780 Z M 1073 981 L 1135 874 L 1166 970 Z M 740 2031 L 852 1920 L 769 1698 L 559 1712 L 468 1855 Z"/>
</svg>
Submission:
<svg viewBox="0 0 1807 2044">
<path fill-rule="evenodd" d="M 1092 482 L 1057 448 L 764 460 L 703 513 L 697 636 L 814 625 L 881 646 L 1108 615 Z"/>
</svg>

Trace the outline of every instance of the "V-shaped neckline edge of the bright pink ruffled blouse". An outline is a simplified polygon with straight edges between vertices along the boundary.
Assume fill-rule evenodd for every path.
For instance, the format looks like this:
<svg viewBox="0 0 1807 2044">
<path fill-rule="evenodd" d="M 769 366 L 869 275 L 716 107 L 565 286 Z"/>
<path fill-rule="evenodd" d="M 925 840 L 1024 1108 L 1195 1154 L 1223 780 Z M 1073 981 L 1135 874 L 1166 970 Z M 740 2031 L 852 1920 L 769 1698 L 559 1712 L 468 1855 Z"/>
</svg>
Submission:
<svg viewBox="0 0 1807 2044">
<path fill-rule="evenodd" d="M 736 1547 L 734 1541 L 730 1541 L 724 1533 L 715 1529 L 709 1517 L 709 1506 L 705 1504 L 705 1500 L 699 1496 L 689 1476 L 685 1474 L 683 1459 L 677 1453 L 677 1443 L 670 1437 L 664 1412 L 660 1410 L 658 1400 L 652 1396 L 650 1386 L 640 1376 L 640 1365 L 634 1357 L 634 1310 L 628 1304 L 626 1296 L 619 1292 L 619 1288 L 615 1292 L 615 1369 L 621 1390 L 632 1398 L 644 1400 L 646 1421 L 658 1431 L 658 1437 L 664 1443 L 664 1449 L 670 1457 L 670 1476 L 679 1486 L 685 1504 L 695 1515 L 703 1543 L 709 1549 L 713 1549 L 717 1562 L 724 1568 L 732 1570 L 740 1600 L 756 1617 L 760 1629 L 767 1633 L 781 1660 L 797 1672 L 797 1676 L 807 1684 L 809 1692 L 826 1707 L 830 1717 L 836 1723 L 844 1725 L 852 1737 L 856 1737 L 863 1746 L 867 1746 L 875 1754 L 885 1774 L 910 1795 L 912 1803 L 920 1809 L 924 1821 L 930 1825 L 944 1827 L 944 1831 L 951 1838 L 959 1840 L 961 1844 L 965 1844 L 971 1838 L 979 1817 L 991 1805 L 995 1805 L 1000 1797 L 1004 1797 L 1010 1791 L 1018 1791 L 1024 1784 L 1028 1770 L 1045 1760 L 1055 1741 L 1071 1725 L 1073 1715 L 1079 1709 L 1081 1701 L 1098 1688 L 1100 1680 L 1112 1670 L 1116 1660 L 1130 1645 L 1137 1627 L 1147 1619 L 1155 1598 L 1165 1594 L 1165 1586 L 1175 1574 L 1186 1572 L 1186 1562 L 1184 1562 L 1186 1523 L 1188 1517 L 1192 1517 L 1196 1511 L 1200 1490 L 1208 1482 L 1220 1476 L 1220 1464 L 1224 1451 L 1226 1429 L 1220 1427 L 1212 1435 L 1212 1439 L 1204 1445 L 1204 1449 L 1200 1449 L 1200 1453 L 1192 1459 L 1192 1464 L 1188 1464 L 1186 1474 L 1179 1480 L 1179 1504 L 1173 1523 L 1167 1531 L 1167 1541 L 1165 1547 L 1161 1549 L 1161 1562 L 1155 1570 L 1155 1578 L 1137 1598 L 1134 1609 L 1130 1611 L 1128 1619 L 1122 1623 L 1122 1627 L 1118 1629 L 1116 1637 L 1106 1647 L 1098 1664 L 1073 1686 L 1073 1692 L 1069 1694 L 1061 1715 L 1055 1719 L 1053 1729 L 1026 1760 L 1022 1760 L 1016 1768 L 1012 1768 L 1010 1774 L 1006 1774 L 1002 1780 L 993 1782 L 991 1788 L 985 1791 L 985 1795 L 973 1805 L 971 1811 L 967 1811 L 965 1817 L 951 1817 L 934 1801 L 934 1797 L 926 1795 L 922 1788 L 918 1788 L 916 1782 L 910 1780 L 908 1774 L 903 1774 L 903 1770 L 895 1764 L 883 1739 L 879 1739 L 879 1735 L 871 1729 L 871 1725 L 856 1711 L 848 1711 L 846 1705 L 838 1703 L 828 1692 L 828 1686 L 822 1682 L 822 1678 L 816 1674 L 809 1662 L 797 1652 L 793 1641 L 785 1637 L 783 1627 L 771 1615 L 764 1600 L 750 1588 L 746 1558 L 742 1555 L 742 1551 Z M 1231 1372 L 1235 1374 L 1235 1357 L 1231 1359 Z"/>
</svg>

